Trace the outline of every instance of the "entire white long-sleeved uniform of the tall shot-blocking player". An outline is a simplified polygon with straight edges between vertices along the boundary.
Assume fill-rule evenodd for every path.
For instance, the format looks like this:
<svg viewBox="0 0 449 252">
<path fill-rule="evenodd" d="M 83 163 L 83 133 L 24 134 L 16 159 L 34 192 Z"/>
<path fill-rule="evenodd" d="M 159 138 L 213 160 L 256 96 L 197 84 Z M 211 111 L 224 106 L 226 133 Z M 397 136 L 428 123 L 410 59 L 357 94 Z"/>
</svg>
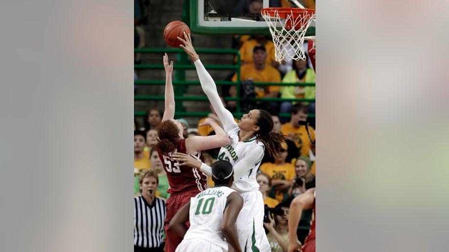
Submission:
<svg viewBox="0 0 449 252">
<path fill-rule="evenodd" d="M 265 146 L 257 142 L 256 137 L 239 142 L 240 128 L 234 117 L 223 105 L 217 92 L 217 86 L 200 60 L 195 61 L 202 90 L 223 124 L 231 142 L 221 147 L 218 159 L 229 161 L 234 168 L 235 189 L 242 196 L 243 208 L 235 222 L 242 251 L 269 252 L 269 242 L 264 231 L 264 201 L 256 182 L 257 169 L 262 162 Z M 209 166 L 202 164 L 202 171 L 212 174 Z"/>
</svg>

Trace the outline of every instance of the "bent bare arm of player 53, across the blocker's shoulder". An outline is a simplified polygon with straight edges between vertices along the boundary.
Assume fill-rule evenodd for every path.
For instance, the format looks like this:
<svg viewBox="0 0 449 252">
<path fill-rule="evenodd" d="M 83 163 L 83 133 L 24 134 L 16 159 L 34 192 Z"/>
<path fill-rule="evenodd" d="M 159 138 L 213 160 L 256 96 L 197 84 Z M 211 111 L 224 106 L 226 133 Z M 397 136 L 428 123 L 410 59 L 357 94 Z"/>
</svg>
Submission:
<svg viewBox="0 0 449 252">
<path fill-rule="evenodd" d="M 196 154 L 198 151 L 212 149 L 229 144 L 230 140 L 223 128 L 221 128 L 215 120 L 207 118 L 200 125 L 211 126 L 215 130 L 212 136 L 191 136 L 185 139 L 185 147 L 187 154 Z"/>
</svg>

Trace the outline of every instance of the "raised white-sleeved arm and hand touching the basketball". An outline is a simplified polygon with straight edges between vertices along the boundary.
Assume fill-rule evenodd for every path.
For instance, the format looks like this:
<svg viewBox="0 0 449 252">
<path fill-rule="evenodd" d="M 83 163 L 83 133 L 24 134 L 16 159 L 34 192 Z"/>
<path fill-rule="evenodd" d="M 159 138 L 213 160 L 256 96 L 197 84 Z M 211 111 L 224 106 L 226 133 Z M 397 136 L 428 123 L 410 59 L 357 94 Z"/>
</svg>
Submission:
<svg viewBox="0 0 449 252">
<path fill-rule="evenodd" d="M 218 95 L 217 85 L 215 84 L 210 74 L 206 71 L 206 69 L 202 65 L 200 57 L 193 48 L 190 34 L 186 35 L 184 33 L 184 37 L 185 40 L 178 37 L 178 39 L 183 43 L 180 45 L 180 47 L 184 49 L 187 55 L 189 55 L 192 58 L 197 68 L 198 78 L 200 79 L 202 90 L 207 95 L 207 98 L 209 98 L 210 104 L 214 108 L 215 113 L 217 113 L 218 118 L 220 119 L 224 129 L 226 130 L 228 126 L 236 124 L 234 121 L 234 117 L 232 116 L 231 112 L 229 112 L 224 107 L 223 102 L 220 99 L 220 96 Z"/>
</svg>

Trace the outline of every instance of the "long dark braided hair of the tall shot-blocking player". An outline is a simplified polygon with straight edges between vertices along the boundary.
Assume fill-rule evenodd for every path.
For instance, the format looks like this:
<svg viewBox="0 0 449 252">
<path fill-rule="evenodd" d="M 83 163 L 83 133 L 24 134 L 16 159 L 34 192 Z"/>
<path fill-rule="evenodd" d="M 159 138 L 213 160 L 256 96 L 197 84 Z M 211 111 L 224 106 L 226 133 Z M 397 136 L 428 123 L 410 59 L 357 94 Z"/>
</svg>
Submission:
<svg viewBox="0 0 449 252">
<path fill-rule="evenodd" d="M 256 132 L 257 141 L 264 144 L 270 156 L 275 156 L 276 152 L 281 149 L 284 135 L 271 132 L 273 129 L 273 119 L 267 110 L 259 109 L 259 118 L 257 118 L 256 126 L 259 126 L 259 131 Z"/>
</svg>

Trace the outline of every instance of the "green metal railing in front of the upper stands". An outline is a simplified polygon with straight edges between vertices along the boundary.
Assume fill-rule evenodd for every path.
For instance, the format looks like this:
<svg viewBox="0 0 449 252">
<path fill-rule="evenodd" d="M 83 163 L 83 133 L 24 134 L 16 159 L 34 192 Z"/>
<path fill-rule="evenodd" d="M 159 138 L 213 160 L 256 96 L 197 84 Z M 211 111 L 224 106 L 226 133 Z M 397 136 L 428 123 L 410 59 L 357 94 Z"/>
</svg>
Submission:
<svg viewBox="0 0 449 252">
<path fill-rule="evenodd" d="M 136 53 L 178 53 L 178 59 L 185 56 L 185 52 L 181 48 L 169 48 L 169 49 L 160 49 L 160 48 L 135 48 L 134 51 Z M 196 49 L 198 54 L 234 54 L 237 56 L 237 64 L 235 65 L 210 65 L 206 64 L 204 67 L 208 70 L 233 70 L 237 73 L 237 80 L 240 80 L 240 53 L 238 50 L 234 49 Z M 175 73 L 174 80 L 172 81 L 175 87 L 175 102 L 177 101 L 208 101 L 205 95 L 203 96 L 184 96 L 184 91 L 188 85 L 201 85 L 199 81 L 185 81 L 185 70 L 195 70 L 195 65 L 188 64 L 189 61 L 186 59 L 182 59 L 179 64 L 174 64 L 173 68 L 177 69 Z M 163 64 L 135 64 L 135 69 L 164 69 Z M 249 101 L 274 101 L 274 102 L 315 102 L 315 99 L 283 99 L 283 98 L 250 98 L 245 99 L 240 97 L 240 85 L 241 81 L 231 82 L 231 81 L 215 81 L 217 85 L 236 85 L 237 86 L 237 97 L 224 97 L 225 101 L 236 101 L 236 112 L 233 113 L 234 117 L 240 118 L 247 111 L 240 111 L 240 101 L 249 100 Z M 137 80 L 134 82 L 136 85 L 165 85 L 165 80 Z M 292 85 L 291 83 L 254 83 L 254 85 Z M 315 86 L 315 83 L 301 83 L 301 86 Z M 178 88 L 176 88 L 178 87 Z M 135 101 L 163 101 L 164 96 L 155 96 L 155 95 L 135 95 Z M 180 103 L 177 103 L 180 104 Z M 205 117 L 209 114 L 209 112 L 185 112 L 184 107 L 176 106 L 177 110 L 175 111 L 176 117 L 184 117 L 184 116 L 198 116 Z M 135 111 L 135 116 L 144 116 L 145 111 Z M 281 117 L 290 117 L 289 113 L 279 114 Z M 309 114 L 309 117 L 315 117 L 314 114 Z"/>
</svg>

